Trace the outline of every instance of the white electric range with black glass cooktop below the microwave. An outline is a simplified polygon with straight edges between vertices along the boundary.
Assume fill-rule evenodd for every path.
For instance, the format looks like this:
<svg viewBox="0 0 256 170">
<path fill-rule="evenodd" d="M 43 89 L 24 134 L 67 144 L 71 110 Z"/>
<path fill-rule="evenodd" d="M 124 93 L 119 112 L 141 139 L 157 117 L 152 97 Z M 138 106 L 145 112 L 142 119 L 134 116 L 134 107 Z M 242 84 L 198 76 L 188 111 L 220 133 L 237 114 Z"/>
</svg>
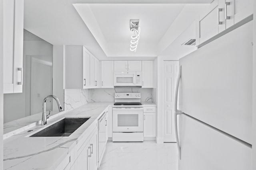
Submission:
<svg viewBox="0 0 256 170">
<path fill-rule="evenodd" d="M 113 105 L 113 142 L 141 142 L 143 105 L 140 93 L 115 93 Z"/>
</svg>

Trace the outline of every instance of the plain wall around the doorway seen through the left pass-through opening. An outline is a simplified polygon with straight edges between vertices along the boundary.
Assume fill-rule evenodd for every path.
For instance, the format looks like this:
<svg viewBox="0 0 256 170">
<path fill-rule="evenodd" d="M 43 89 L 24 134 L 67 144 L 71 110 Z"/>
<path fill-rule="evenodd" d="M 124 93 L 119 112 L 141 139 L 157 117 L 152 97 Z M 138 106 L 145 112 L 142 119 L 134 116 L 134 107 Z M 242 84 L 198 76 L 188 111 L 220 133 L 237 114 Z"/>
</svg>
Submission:
<svg viewBox="0 0 256 170">
<path fill-rule="evenodd" d="M 4 123 L 28 116 L 30 112 L 30 75 L 26 75 L 26 58 L 30 55 L 52 62 L 53 46 L 46 41 L 23 41 L 23 88 L 22 93 L 4 94 Z M 28 62 L 29 63 L 29 62 Z M 29 85 L 29 86 L 28 86 Z M 13 107 L 15 106 L 15 107 Z"/>
</svg>

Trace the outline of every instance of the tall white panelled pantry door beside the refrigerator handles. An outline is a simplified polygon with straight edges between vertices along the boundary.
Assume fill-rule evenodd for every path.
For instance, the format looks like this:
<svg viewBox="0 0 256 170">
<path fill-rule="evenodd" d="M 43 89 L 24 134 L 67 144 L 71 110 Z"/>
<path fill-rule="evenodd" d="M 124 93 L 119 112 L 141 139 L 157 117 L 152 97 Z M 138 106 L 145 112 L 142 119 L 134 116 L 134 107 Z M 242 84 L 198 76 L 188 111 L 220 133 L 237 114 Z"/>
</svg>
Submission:
<svg viewBox="0 0 256 170">
<path fill-rule="evenodd" d="M 174 96 L 178 77 L 178 67 L 178 61 L 164 61 L 164 142 L 176 142 L 174 132 Z"/>
</svg>

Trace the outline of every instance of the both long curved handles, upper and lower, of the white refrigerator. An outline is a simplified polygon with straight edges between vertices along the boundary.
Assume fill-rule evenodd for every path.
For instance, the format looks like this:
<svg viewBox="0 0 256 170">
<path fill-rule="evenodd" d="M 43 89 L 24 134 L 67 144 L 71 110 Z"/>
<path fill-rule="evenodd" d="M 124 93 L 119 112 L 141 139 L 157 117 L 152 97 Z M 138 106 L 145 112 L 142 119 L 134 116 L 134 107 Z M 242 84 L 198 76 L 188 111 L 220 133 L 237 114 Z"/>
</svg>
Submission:
<svg viewBox="0 0 256 170">
<path fill-rule="evenodd" d="M 177 109 L 177 105 L 178 105 L 178 90 L 179 90 L 179 85 L 180 85 L 180 77 L 181 77 L 181 66 L 179 68 L 179 75 L 178 75 L 178 80 L 177 80 L 177 84 L 176 84 L 175 101 L 174 101 L 175 136 L 176 136 L 176 143 L 177 143 L 177 147 L 178 147 L 179 159 L 181 159 L 181 154 L 180 154 L 180 141 L 179 141 L 179 136 L 178 136 L 178 120 L 177 120 L 177 117 L 178 117 L 178 115 L 183 114 L 181 110 Z"/>
</svg>

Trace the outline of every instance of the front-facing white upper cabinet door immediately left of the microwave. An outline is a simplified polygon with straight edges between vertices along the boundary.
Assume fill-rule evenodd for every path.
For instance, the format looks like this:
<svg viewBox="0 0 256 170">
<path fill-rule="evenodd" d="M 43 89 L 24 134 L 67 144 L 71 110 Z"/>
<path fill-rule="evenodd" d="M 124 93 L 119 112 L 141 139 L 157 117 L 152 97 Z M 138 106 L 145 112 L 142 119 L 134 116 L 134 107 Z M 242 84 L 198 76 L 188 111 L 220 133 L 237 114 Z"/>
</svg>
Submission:
<svg viewBox="0 0 256 170">
<path fill-rule="evenodd" d="M 114 88 L 114 61 L 101 61 L 101 87 Z"/>
</svg>

